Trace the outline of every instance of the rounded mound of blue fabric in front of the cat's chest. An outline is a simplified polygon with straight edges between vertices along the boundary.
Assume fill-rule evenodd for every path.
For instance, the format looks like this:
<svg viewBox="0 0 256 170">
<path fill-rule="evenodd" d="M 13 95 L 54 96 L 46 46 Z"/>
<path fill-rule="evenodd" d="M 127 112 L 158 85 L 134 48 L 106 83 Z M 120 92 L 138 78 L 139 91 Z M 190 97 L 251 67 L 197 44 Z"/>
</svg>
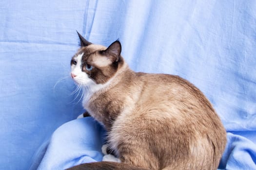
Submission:
<svg viewBox="0 0 256 170">
<path fill-rule="evenodd" d="M 36 169 L 38 162 L 38 170 L 64 170 L 101 161 L 104 136 L 104 129 L 91 117 L 65 123 L 53 133 L 42 160 L 38 156 L 30 169 Z"/>
</svg>

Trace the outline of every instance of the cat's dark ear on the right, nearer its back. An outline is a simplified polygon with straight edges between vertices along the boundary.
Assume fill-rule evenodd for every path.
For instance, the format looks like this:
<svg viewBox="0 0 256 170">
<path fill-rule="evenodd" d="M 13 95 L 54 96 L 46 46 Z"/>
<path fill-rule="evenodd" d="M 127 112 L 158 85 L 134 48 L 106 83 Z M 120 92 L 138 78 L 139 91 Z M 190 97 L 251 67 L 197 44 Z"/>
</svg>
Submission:
<svg viewBox="0 0 256 170">
<path fill-rule="evenodd" d="M 102 51 L 102 54 L 110 58 L 112 62 L 117 62 L 120 58 L 121 50 L 121 43 L 117 40 L 113 42 L 106 50 Z"/>
</svg>

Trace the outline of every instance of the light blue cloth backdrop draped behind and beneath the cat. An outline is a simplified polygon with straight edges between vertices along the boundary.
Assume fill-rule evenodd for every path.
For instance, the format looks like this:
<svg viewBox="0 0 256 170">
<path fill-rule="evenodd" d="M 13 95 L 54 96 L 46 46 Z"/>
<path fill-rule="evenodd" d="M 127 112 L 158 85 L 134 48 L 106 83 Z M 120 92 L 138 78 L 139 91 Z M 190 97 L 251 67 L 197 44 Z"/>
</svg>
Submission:
<svg viewBox="0 0 256 170">
<path fill-rule="evenodd" d="M 76 119 L 76 30 L 105 46 L 119 38 L 135 71 L 196 85 L 228 132 L 219 169 L 256 169 L 255 9 L 253 0 L 1 0 L 0 169 L 101 160 L 104 129 Z"/>
</svg>

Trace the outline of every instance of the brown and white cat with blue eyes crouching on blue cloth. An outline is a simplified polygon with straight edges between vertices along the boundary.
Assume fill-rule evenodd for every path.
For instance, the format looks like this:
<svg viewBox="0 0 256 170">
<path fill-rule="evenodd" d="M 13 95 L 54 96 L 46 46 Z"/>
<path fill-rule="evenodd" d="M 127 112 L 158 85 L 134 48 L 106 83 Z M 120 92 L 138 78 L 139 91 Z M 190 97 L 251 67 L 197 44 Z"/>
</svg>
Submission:
<svg viewBox="0 0 256 170">
<path fill-rule="evenodd" d="M 216 170 L 226 131 L 213 106 L 188 81 L 169 74 L 134 72 L 109 47 L 79 34 L 71 77 L 87 91 L 86 115 L 108 132 L 108 147 L 118 162 L 94 162 L 69 170 Z"/>
</svg>

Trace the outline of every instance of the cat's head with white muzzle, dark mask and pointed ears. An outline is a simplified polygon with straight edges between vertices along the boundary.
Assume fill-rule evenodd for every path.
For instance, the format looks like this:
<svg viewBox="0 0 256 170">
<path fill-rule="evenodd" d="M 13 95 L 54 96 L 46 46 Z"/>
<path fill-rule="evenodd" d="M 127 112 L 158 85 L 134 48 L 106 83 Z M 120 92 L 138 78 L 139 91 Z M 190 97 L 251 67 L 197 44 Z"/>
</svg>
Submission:
<svg viewBox="0 0 256 170">
<path fill-rule="evenodd" d="M 120 42 L 117 40 L 109 47 L 104 47 L 78 35 L 81 48 L 71 59 L 71 77 L 78 85 L 107 83 L 124 63 L 120 56 Z"/>
</svg>

